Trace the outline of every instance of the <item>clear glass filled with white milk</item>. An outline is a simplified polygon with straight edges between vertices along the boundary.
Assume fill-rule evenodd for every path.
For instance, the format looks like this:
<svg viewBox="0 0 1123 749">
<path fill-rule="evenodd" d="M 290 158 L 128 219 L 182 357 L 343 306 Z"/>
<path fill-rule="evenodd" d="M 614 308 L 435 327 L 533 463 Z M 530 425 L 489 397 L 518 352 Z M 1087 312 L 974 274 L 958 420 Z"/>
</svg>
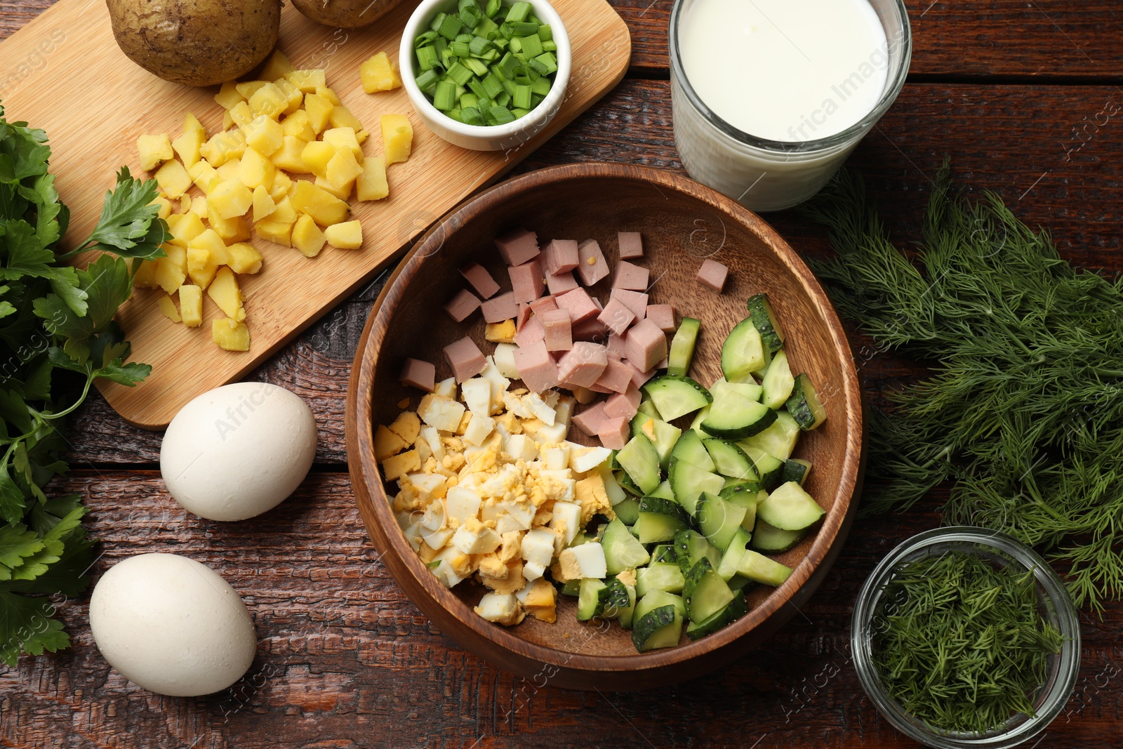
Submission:
<svg viewBox="0 0 1123 749">
<path fill-rule="evenodd" d="M 896 100 L 902 0 L 675 0 L 675 145 L 692 177 L 755 211 L 827 184 Z"/>
</svg>

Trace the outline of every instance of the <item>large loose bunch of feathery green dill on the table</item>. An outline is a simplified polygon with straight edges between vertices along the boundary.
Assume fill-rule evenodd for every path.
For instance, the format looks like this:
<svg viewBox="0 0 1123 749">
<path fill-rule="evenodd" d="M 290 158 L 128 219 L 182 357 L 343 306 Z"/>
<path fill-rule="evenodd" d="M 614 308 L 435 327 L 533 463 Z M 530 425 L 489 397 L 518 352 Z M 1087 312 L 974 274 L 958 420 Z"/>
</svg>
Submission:
<svg viewBox="0 0 1123 749">
<path fill-rule="evenodd" d="M 812 262 L 839 312 L 932 376 L 870 419 L 865 512 L 955 481 L 943 521 L 1010 533 L 1067 566 L 1078 606 L 1123 595 L 1123 289 L 1072 267 L 948 161 L 922 240 L 897 249 L 842 171 L 805 209 L 837 258 Z"/>
</svg>

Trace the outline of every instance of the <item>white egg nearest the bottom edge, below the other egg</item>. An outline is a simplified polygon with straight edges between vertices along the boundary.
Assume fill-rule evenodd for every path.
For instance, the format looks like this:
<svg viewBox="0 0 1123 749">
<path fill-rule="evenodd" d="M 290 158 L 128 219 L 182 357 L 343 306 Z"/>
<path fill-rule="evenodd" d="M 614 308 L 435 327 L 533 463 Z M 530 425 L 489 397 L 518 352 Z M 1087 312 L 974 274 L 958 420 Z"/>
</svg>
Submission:
<svg viewBox="0 0 1123 749">
<path fill-rule="evenodd" d="M 254 622 L 218 573 L 174 554 L 113 565 L 90 597 L 93 641 L 127 679 L 193 697 L 227 688 L 257 649 Z"/>
</svg>

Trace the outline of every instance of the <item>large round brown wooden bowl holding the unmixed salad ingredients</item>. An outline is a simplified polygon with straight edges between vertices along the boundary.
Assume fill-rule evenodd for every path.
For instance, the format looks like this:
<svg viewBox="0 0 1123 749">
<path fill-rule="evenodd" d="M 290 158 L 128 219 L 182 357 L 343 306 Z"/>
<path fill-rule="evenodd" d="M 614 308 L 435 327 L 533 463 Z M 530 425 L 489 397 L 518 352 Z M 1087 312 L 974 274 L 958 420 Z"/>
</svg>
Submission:
<svg viewBox="0 0 1123 749">
<path fill-rule="evenodd" d="M 745 301 L 767 291 L 787 334 L 793 372 L 807 372 L 828 419 L 804 435 L 796 455 L 814 469 L 807 491 L 828 512 L 816 533 L 777 558 L 795 568 L 778 588 L 749 593 L 751 610 L 736 623 L 696 642 L 636 652 L 630 632 L 615 622 L 578 622 L 576 599 L 558 596 L 558 618 L 528 616 L 505 628 L 478 616 L 473 606 L 484 588 L 465 581 L 441 585 L 398 527 L 374 459 L 373 430 L 399 413 L 396 403 L 417 391 L 403 387 L 403 359 L 451 371 L 441 347 L 471 335 L 486 353 L 484 323 L 474 314 L 453 322 L 442 305 L 465 282 L 457 272 L 469 262 L 510 282 L 492 239 L 524 226 L 542 243 L 554 237 L 595 238 L 610 265 L 617 231 L 641 231 L 642 265 L 654 280 L 651 303 L 673 303 L 679 314 L 702 320 L 692 375 L 707 384 L 721 375 L 725 334 L 746 316 Z M 703 258 L 730 268 L 723 293 L 703 287 L 695 273 Z M 608 280 L 597 284 L 608 298 Z M 570 439 L 579 436 L 572 430 Z M 347 394 L 347 453 L 358 508 L 374 546 L 398 583 L 446 634 L 476 655 L 536 685 L 585 689 L 637 689 L 687 679 L 728 666 L 779 629 L 815 591 L 838 556 L 850 527 L 862 468 L 861 389 L 842 326 L 827 294 L 800 256 L 760 218 L 686 177 L 622 164 L 573 164 L 526 174 L 476 195 L 433 226 L 414 246 L 383 290 L 363 332 Z"/>
</svg>

